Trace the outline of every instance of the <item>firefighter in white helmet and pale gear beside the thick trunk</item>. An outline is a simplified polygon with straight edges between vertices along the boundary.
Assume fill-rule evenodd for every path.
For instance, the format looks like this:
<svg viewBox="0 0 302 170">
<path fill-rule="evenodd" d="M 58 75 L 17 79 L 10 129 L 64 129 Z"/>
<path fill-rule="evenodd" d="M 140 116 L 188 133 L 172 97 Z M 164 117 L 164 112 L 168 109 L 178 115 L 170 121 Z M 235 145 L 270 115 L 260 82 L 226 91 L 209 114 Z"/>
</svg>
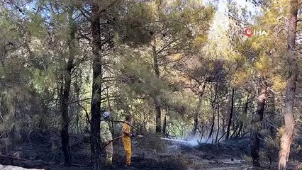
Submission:
<svg viewBox="0 0 302 170">
<path fill-rule="evenodd" d="M 112 134 L 110 132 L 109 125 L 106 120 L 109 120 L 110 112 L 106 111 L 103 114 L 104 120 L 101 121 L 101 141 L 103 142 L 103 145 L 106 149 L 106 166 L 112 166 L 112 158 L 113 158 L 113 144 L 111 142 L 112 140 Z"/>
</svg>

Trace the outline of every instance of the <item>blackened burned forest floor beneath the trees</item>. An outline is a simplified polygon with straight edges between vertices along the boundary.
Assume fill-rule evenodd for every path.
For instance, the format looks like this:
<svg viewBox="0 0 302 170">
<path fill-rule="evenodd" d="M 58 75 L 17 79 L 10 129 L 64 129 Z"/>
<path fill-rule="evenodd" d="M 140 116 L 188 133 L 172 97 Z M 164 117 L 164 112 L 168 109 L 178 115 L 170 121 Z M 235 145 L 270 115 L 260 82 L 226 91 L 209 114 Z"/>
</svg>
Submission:
<svg viewBox="0 0 302 170">
<path fill-rule="evenodd" d="M 60 134 L 56 132 L 35 131 L 24 135 L 22 142 L 10 153 L 18 152 L 24 162 L 1 158 L 2 164 L 13 164 L 26 168 L 44 168 L 53 170 L 84 170 L 90 162 L 89 137 L 70 135 L 72 163 L 77 166 L 65 167 L 60 146 Z M 157 140 L 157 141 L 155 141 Z M 185 142 L 159 140 L 155 137 L 137 137 L 133 139 L 133 170 L 186 170 L 186 169 L 251 169 L 249 158 L 249 138 L 230 140 L 217 145 L 191 146 Z M 125 152 L 121 140 L 114 142 L 113 167 L 125 169 Z M 2 152 L 4 153 L 4 152 Z M 105 159 L 105 153 L 102 154 Z M 37 162 L 37 160 L 40 160 Z M 33 164 L 31 164 L 33 162 Z M 264 164 L 269 168 L 268 164 Z M 273 168 L 273 167 L 271 167 Z M 109 168 L 104 167 L 104 170 Z M 264 168 L 263 168 L 264 169 Z M 289 166 L 288 169 L 293 169 Z"/>
</svg>

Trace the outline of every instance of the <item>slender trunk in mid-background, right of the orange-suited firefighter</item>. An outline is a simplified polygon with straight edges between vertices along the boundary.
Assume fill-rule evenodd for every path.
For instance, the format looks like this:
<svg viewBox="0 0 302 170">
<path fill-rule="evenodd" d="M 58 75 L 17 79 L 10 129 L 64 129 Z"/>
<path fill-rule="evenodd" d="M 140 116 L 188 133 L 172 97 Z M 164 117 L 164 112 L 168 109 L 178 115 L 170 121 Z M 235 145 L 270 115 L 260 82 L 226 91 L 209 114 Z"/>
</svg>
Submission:
<svg viewBox="0 0 302 170">
<path fill-rule="evenodd" d="M 158 66 L 158 60 L 157 60 L 157 52 L 156 52 L 156 39 L 155 35 L 152 35 L 152 55 L 153 55 L 153 69 L 155 72 L 155 76 L 157 78 L 160 78 L 160 68 Z M 156 132 L 162 132 L 162 110 L 160 106 L 160 91 L 157 91 L 155 93 L 155 96 L 153 98 L 153 101 L 155 103 L 155 112 L 156 112 Z"/>
</svg>

